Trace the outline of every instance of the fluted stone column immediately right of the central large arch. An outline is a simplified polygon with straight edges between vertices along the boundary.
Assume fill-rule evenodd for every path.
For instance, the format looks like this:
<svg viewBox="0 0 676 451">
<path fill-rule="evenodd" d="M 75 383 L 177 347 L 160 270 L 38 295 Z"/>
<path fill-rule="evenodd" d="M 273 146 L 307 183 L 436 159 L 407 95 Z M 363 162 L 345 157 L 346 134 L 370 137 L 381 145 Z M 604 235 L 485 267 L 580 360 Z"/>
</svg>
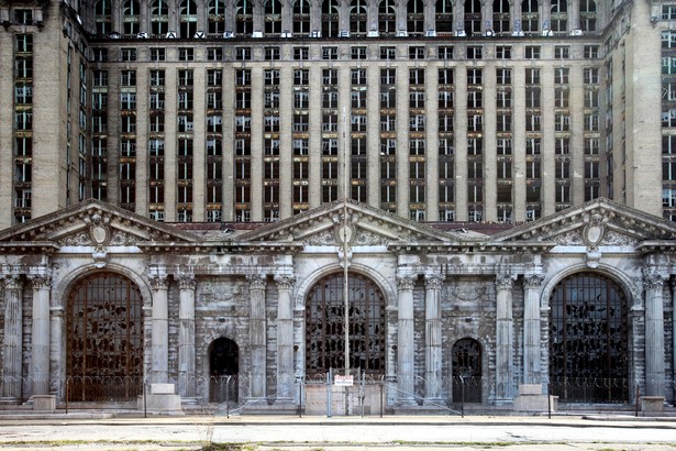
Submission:
<svg viewBox="0 0 676 451">
<path fill-rule="evenodd" d="M 399 381 L 399 402 L 400 404 L 414 404 L 414 365 L 413 365 L 413 286 L 415 277 L 397 277 L 399 290 L 399 320 L 397 339 L 397 369 Z"/>
</svg>

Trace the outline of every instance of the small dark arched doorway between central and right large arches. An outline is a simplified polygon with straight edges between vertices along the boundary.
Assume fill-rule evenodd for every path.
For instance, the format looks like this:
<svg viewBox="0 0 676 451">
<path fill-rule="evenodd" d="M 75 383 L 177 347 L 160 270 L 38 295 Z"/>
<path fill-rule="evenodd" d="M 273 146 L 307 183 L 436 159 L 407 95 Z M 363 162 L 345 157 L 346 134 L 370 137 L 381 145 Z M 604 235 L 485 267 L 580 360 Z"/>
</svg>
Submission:
<svg viewBox="0 0 676 451">
<path fill-rule="evenodd" d="M 451 350 L 453 375 L 453 402 L 481 402 L 481 345 L 478 341 L 464 338 L 456 341 Z"/>
</svg>

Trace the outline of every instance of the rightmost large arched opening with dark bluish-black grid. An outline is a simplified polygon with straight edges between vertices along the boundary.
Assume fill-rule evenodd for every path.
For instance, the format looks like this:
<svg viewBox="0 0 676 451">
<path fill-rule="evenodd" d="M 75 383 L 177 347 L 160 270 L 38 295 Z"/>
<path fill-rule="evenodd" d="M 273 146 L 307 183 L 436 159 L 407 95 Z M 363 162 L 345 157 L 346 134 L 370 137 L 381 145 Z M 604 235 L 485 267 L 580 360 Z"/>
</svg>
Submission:
<svg viewBox="0 0 676 451">
<path fill-rule="evenodd" d="M 624 290 L 600 274 L 559 282 L 550 299 L 550 380 L 572 403 L 629 400 L 629 327 Z"/>
</svg>

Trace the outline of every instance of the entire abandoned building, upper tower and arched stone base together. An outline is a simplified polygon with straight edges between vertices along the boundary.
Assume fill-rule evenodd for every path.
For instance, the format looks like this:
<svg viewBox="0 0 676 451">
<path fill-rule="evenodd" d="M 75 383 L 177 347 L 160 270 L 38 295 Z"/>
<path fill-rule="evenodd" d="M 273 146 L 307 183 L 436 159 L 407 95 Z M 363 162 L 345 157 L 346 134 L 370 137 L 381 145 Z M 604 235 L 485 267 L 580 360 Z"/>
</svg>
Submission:
<svg viewBox="0 0 676 451">
<path fill-rule="evenodd" d="M 672 403 L 675 21 L 0 0 L 0 400 Z"/>
</svg>

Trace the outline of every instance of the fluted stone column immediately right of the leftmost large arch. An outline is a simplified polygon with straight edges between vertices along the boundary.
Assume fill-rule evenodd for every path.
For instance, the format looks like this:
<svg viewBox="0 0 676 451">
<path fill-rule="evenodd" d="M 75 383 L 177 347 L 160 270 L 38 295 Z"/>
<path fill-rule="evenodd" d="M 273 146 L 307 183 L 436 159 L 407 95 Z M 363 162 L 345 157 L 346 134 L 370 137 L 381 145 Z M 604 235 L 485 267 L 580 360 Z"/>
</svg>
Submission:
<svg viewBox="0 0 676 451">
<path fill-rule="evenodd" d="M 166 275 L 151 277 L 153 287 L 153 330 L 151 381 L 167 383 L 169 378 L 169 306 L 167 292 L 169 283 Z"/>
</svg>

